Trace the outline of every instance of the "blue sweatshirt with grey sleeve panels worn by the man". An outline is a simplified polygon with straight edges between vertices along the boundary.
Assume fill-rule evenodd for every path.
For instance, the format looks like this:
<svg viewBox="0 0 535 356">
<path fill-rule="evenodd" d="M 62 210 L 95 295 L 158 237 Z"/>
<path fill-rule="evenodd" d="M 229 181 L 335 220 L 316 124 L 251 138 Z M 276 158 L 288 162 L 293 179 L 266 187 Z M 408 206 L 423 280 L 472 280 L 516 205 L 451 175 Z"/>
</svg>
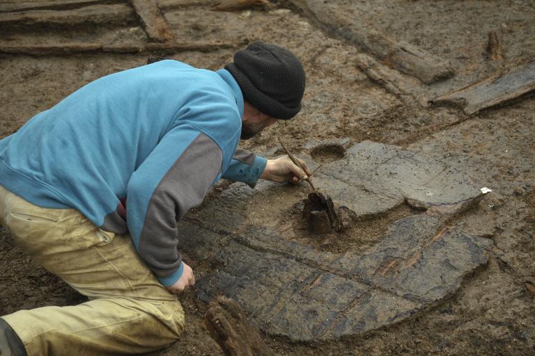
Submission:
<svg viewBox="0 0 535 356">
<path fill-rule="evenodd" d="M 178 281 L 176 221 L 219 178 L 254 186 L 266 160 L 236 149 L 243 96 L 226 70 L 163 60 L 104 76 L 0 140 L 0 184 L 130 232 L 164 286 Z M 125 204 L 126 201 L 126 213 Z"/>
</svg>

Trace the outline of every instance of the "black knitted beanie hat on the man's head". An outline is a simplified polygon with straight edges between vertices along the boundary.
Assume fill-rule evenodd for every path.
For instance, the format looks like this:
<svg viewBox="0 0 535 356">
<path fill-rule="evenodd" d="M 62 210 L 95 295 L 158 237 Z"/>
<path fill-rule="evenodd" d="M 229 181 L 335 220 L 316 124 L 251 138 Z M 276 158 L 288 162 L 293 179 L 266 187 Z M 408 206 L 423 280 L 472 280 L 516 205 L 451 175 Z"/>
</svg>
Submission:
<svg viewBox="0 0 535 356">
<path fill-rule="evenodd" d="M 225 69 L 234 76 L 245 101 L 261 113 L 291 119 L 301 110 L 304 70 L 288 49 L 257 41 L 234 54 Z"/>
</svg>

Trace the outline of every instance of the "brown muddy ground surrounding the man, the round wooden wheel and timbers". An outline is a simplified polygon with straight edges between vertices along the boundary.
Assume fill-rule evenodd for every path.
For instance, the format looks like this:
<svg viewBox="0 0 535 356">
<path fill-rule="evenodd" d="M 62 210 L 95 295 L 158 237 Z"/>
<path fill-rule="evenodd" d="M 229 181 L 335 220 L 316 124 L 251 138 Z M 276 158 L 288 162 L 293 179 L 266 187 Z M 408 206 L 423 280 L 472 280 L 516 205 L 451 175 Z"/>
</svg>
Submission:
<svg viewBox="0 0 535 356">
<path fill-rule="evenodd" d="M 357 47 L 325 32 L 290 3 L 279 1 L 267 8 L 226 13 L 210 11 L 210 1 L 162 0 L 160 4 L 177 42 L 221 41 L 231 47 L 181 51 L 170 54 L 171 58 L 216 70 L 231 60 L 235 49 L 254 40 L 281 44 L 302 58 L 307 72 L 302 112 L 288 125 L 270 127 L 243 147 L 267 152 L 270 157 L 279 153 L 275 148 L 277 136 L 295 152 L 311 140 L 373 140 L 423 152 L 446 163 L 463 161 L 473 186 L 492 189 L 476 207 L 456 217 L 456 224 L 465 232 L 493 241 L 488 263 L 467 277 L 456 293 L 408 320 L 364 335 L 323 343 L 290 343 L 284 337 L 263 334 L 269 346 L 280 355 L 295 356 L 535 355 L 535 95 L 524 95 L 469 118 L 457 108 L 426 104 L 435 95 L 534 60 L 532 1 L 336 2 L 335 11 L 346 9 L 362 26 L 449 60 L 456 70 L 453 78 L 427 86 L 385 67 L 405 92 L 403 97 L 371 81 L 355 66 L 353 58 L 360 51 Z M 111 10 L 123 17 L 112 21 L 95 15 L 91 21 L 72 20 L 70 24 L 61 19 L 0 22 L 0 48 L 147 41 L 125 3 L 104 1 L 104 5 L 91 6 L 97 13 L 99 6 L 112 6 Z M 107 12 L 113 13 L 111 10 Z M 488 58 L 485 49 L 490 31 L 497 31 L 501 38 L 502 60 Z M 33 115 L 85 83 L 143 65 L 147 56 L 0 54 L 0 137 L 15 132 Z M 407 97 L 412 99 L 408 101 Z M 216 186 L 207 199 L 217 197 L 226 185 Z M 410 213 L 403 209 L 386 216 L 387 220 L 375 217 L 361 222 L 362 232 L 373 234 L 375 227 L 382 228 L 391 219 Z M 261 218 L 258 223 L 262 223 Z M 338 243 L 336 248 L 343 250 L 344 246 Z M 44 305 L 75 305 L 84 300 L 33 264 L 4 229 L 0 230 L 0 256 L 0 315 Z M 187 262 L 197 279 L 212 270 L 203 261 Z M 183 339 L 154 355 L 222 355 L 203 328 L 204 302 L 196 298 L 195 290 L 187 291 L 181 300 L 188 322 Z"/>
</svg>

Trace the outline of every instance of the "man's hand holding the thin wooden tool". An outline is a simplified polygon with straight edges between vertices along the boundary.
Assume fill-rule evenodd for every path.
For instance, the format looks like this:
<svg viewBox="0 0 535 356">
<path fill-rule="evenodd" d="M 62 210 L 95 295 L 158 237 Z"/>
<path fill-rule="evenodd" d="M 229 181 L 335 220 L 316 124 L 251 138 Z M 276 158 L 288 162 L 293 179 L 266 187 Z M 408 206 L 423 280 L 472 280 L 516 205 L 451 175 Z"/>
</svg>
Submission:
<svg viewBox="0 0 535 356">
<path fill-rule="evenodd" d="M 285 181 L 290 182 L 291 184 L 297 184 L 302 179 L 307 179 L 311 176 L 307 164 L 304 163 L 302 159 L 295 157 L 297 161 L 301 164 L 304 171 L 297 167 L 290 157 L 282 156 L 278 159 L 268 159 L 267 164 L 265 165 L 264 172 L 260 176 L 261 179 L 267 179 L 269 181 L 276 181 L 277 183 L 283 183 Z"/>
</svg>

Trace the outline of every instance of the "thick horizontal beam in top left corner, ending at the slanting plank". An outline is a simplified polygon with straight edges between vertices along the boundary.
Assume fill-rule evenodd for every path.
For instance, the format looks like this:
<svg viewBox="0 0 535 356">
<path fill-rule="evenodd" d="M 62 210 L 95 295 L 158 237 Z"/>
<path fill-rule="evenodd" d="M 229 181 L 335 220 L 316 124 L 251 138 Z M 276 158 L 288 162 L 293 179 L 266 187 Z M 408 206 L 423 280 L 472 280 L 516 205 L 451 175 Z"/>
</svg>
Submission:
<svg viewBox="0 0 535 356">
<path fill-rule="evenodd" d="M 127 4 L 92 5 L 76 10 L 29 10 L 17 13 L 0 13 L 0 25 L 59 24 L 124 24 L 134 21 L 134 10 Z"/>
</svg>

